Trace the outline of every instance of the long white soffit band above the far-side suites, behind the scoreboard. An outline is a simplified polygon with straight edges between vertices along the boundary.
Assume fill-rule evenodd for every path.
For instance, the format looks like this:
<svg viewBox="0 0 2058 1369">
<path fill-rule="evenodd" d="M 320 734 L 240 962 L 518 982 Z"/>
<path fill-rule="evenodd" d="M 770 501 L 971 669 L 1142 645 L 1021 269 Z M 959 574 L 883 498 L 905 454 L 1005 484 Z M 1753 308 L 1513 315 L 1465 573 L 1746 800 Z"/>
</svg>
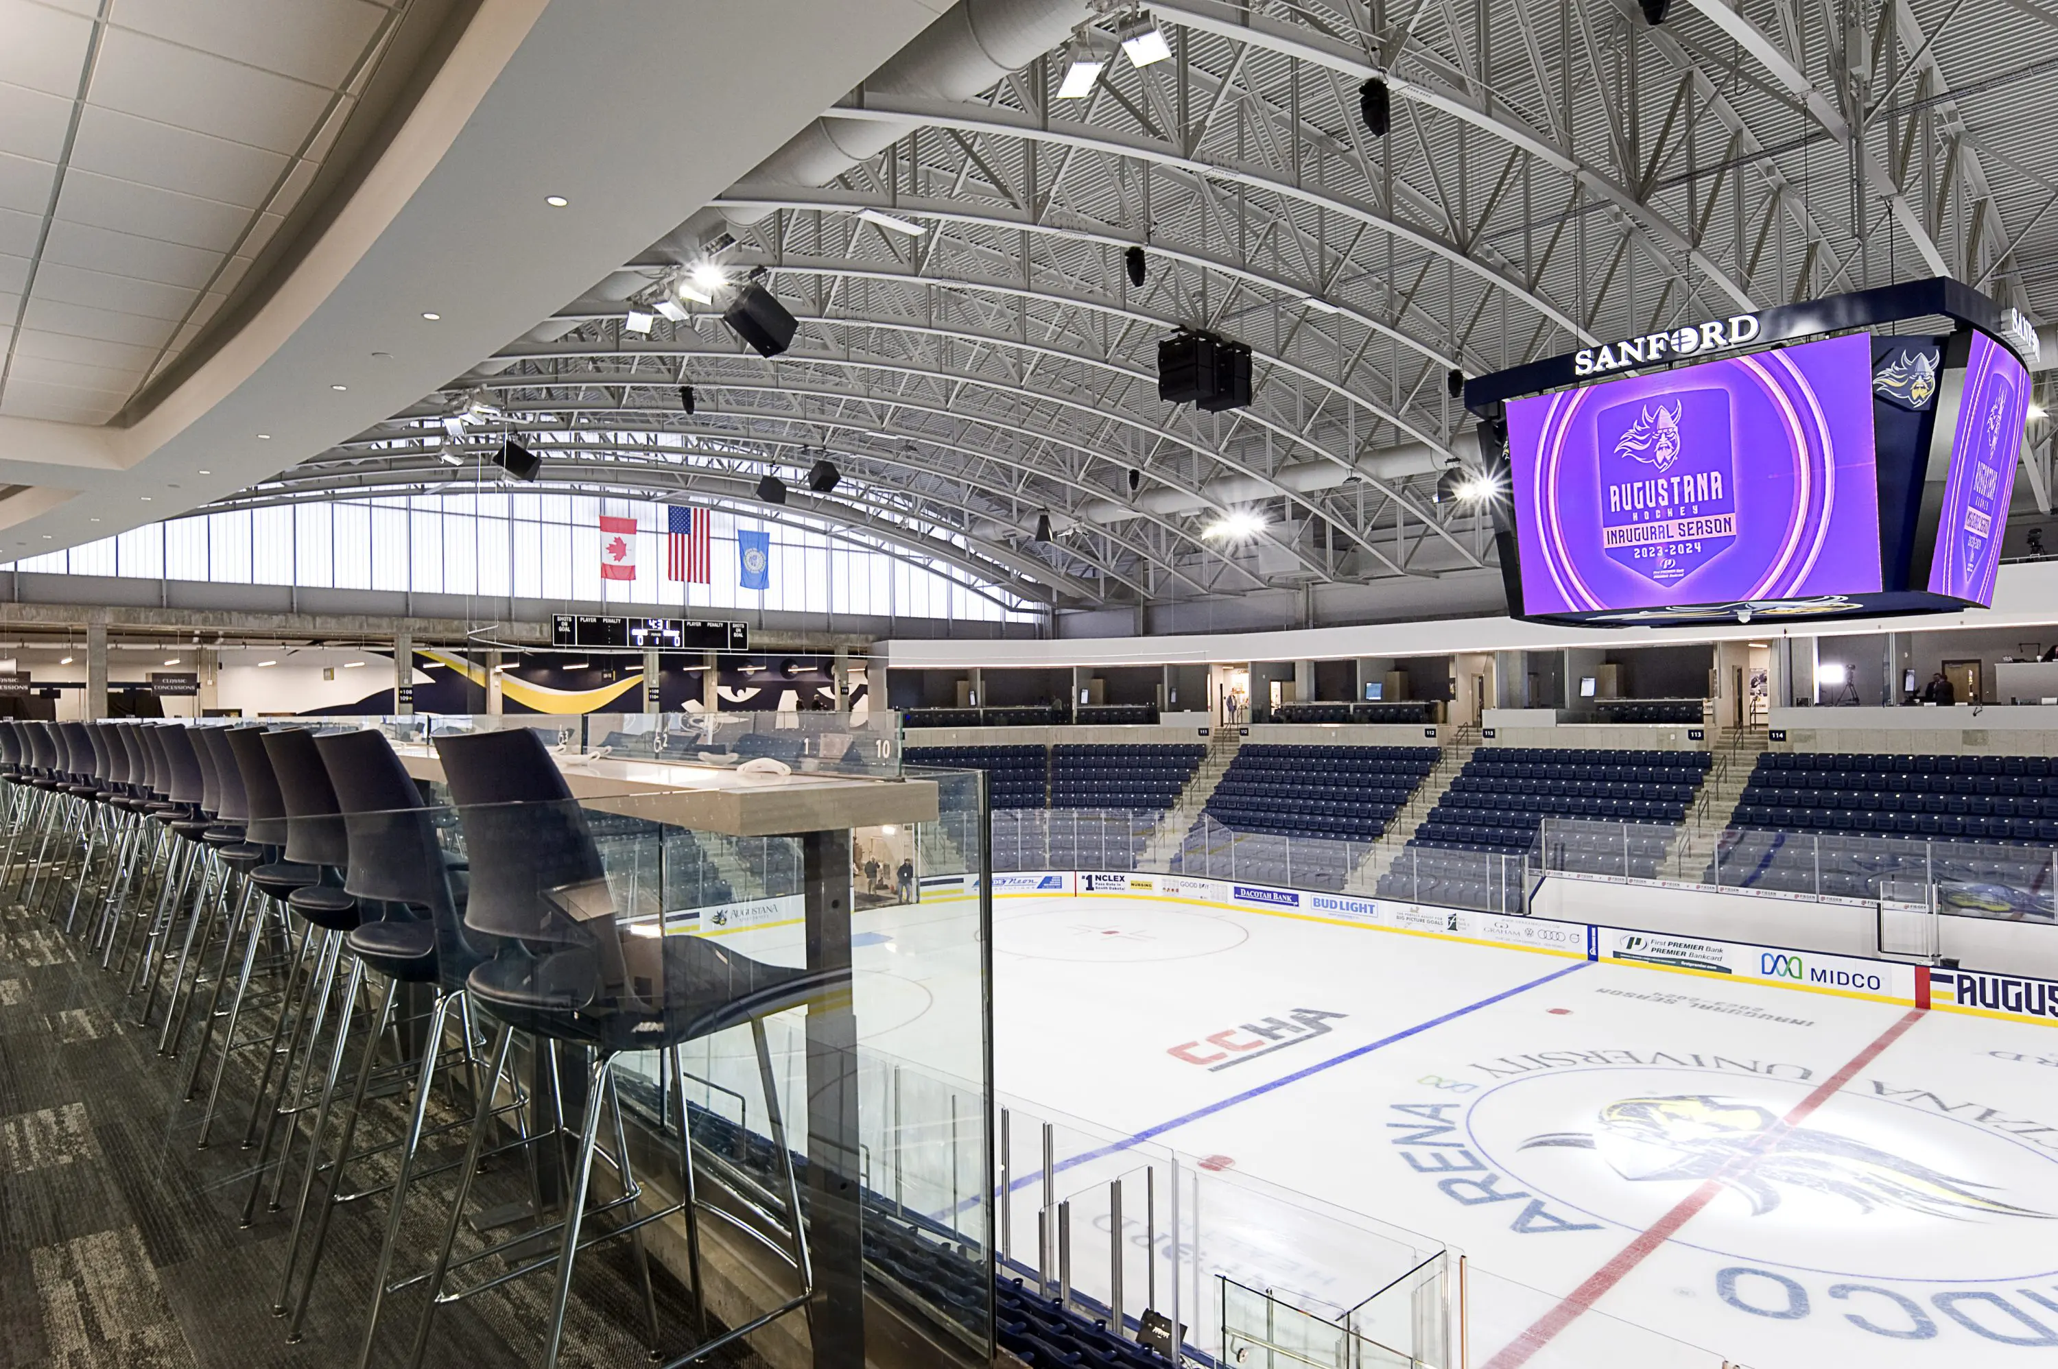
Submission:
<svg viewBox="0 0 2058 1369">
<path fill-rule="evenodd" d="M 1696 628 L 1566 628 L 1515 618 L 1443 618 L 1432 622 L 1294 628 L 1290 632 L 1214 632 L 1194 636 L 1105 636 L 1039 640 L 895 638 L 875 648 L 893 669 L 1004 669 L 1212 665 L 1245 661 L 1342 661 L 1350 657 L 1443 657 L 1480 651 L 1558 651 L 1562 646 L 1671 646 L 1681 642 L 1762 642 L 1782 636 L 1865 636 L 1875 632 L 1951 632 L 2021 628 L 2052 622 L 2058 560 L 2000 568 L 1994 607 L 1910 618 L 1797 622 L 1760 618 Z"/>
</svg>

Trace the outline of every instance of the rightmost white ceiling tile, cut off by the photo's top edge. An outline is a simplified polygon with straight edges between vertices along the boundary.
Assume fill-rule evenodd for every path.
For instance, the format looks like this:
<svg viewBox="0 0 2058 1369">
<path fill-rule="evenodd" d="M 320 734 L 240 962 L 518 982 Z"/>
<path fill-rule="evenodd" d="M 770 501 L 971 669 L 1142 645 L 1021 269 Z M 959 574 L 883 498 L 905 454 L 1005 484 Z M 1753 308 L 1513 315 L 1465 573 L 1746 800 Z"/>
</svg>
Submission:
<svg viewBox="0 0 2058 1369">
<path fill-rule="evenodd" d="M 362 0 L 115 0 L 113 23 L 319 86 L 338 86 L 385 6 Z"/>
</svg>

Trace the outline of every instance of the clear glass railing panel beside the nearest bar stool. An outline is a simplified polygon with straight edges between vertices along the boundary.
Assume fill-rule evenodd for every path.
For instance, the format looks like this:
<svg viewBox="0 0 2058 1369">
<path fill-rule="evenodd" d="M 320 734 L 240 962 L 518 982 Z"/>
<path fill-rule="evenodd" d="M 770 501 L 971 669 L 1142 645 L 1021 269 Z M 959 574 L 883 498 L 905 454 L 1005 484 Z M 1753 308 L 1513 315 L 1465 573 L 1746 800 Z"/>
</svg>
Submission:
<svg viewBox="0 0 2058 1369">
<path fill-rule="evenodd" d="M 696 828 L 706 793 L 661 782 L 589 780 L 562 803 L 455 805 L 440 776 L 457 762 L 436 753 L 426 766 L 418 749 L 531 721 L 333 723 L 317 731 L 377 729 L 399 743 L 426 803 L 338 817 L 352 865 L 331 879 L 379 900 L 370 906 L 385 916 L 430 922 L 445 988 L 469 992 L 482 1031 L 506 1021 L 527 1033 L 533 1044 L 512 1050 L 498 1089 L 587 1097 L 591 1046 L 619 1052 L 622 1108 L 652 1140 L 630 1147 L 648 1202 L 683 1192 L 675 1138 L 685 1118 L 702 1239 L 739 1233 L 784 1264 L 755 1293 L 737 1285 L 731 1326 L 803 1305 L 823 1326 L 823 1299 L 862 1287 L 941 1328 L 951 1361 L 990 1363 L 990 902 L 963 877 L 984 865 L 984 776 L 928 772 L 936 819 L 745 838 Z M 562 723 L 535 721 L 547 745 L 560 745 L 549 729 Z M 860 821 L 879 815 L 862 797 L 848 809 Z M 891 885 L 862 898 L 866 863 L 936 848 L 945 821 L 957 887 L 924 879 L 906 898 Z M 560 1031 L 531 1031 L 543 1019 Z M 461 1130 L 438 1140 L 436 1161 L 455 1161 L 463 1145 Z M 823 1210 L 840 1173 L 860 1208 L 848 1225 Z M 537 1182 L 562 1192 L 564 1178 L 560 1167 Z M 453 1287 L 500 1272 L 482 1260 Z M 815 1297 L 790 1301 L 794 1287 Z M 807 1334 L 809 1322 L 790 1326 Z"/>
</svg>

